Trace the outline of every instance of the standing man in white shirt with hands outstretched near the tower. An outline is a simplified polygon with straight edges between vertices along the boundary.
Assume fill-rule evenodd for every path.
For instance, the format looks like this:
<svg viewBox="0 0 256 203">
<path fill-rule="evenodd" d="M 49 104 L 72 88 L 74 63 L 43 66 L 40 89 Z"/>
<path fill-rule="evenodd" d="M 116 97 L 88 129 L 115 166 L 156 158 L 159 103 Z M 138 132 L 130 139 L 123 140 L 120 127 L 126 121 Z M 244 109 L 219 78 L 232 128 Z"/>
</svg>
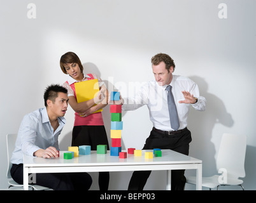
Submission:
<svg viewBox="0 0 256 203">
<path fill-rule="evenodd" d="M 187 129 L 187 118 L 190 106 L 203 111 L 206 99 L 199 95 L 199 88 L 188 77 L 173 75 L 175 64 L 173 59 L 164 53 L 152 57 L 152 70 L 155 81 L 150 81 L 133 98 L 122 99 L 122 110 L 135 110 L 147 105 L 153 129 L 146 139 L 143 150 L 161 148 L 171 149 L 188 155 L 191 133 Z M 174 102 L 178 112 L 179 128 L 171 126 L 167 104 L 166 87 L 172 86 Z M 128 190 L 143 190 L 151 171 L 134 171 Z M 183 190 L 186 178 L 185 170 L 171 171 L 171 189 Z"/>
</svg>

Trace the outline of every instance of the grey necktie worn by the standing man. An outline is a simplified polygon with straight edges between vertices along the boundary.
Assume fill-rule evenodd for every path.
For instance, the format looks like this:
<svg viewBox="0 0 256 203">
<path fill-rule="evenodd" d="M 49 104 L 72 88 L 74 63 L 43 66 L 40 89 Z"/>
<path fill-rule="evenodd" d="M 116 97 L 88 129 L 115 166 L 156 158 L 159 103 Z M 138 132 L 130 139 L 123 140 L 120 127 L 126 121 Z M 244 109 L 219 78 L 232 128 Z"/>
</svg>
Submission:
<svg viewBox="0 0 256 203">
<path fill-rule="evenodd" d="M 180 128 L 180 122 L 178 119 L 178 113 L 177 108 L 174 102 L 173 93 L 171 93 L 172 86 L 168 85 L 166 87 L 167 93 L 167 102 L 168 102 L 168 108 L 169 108 L 169 116 L 170 116 L 170 122 L 171 122 L 171 128 L 174 129 L 174 131 L 177 131 Z"/>
</svg>

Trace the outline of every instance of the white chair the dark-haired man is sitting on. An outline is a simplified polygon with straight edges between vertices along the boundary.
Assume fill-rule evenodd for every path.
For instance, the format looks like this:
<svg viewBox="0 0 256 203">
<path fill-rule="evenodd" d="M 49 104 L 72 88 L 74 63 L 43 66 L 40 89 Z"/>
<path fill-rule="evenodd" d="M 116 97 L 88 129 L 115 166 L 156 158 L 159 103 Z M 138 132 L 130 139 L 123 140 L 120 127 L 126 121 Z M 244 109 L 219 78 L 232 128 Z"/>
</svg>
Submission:
<svg viewBox="0 0 256 203">
<path fill-rule="evenodd" d="M 11 159 L 11 154 L 12 154 L 14 148 L 15 148 L 16 138 L 17 138 L 17 134 L 7 134 L 6 135 L 7 161 L 8 161 L 6 177 L 9 180 L 8 181 L 9 188 L 10 187 L 17 187 L 17 188 L 23 187 L 23 185 L 20 185 L 20 184 L 16 183 L 11 178 L 11 173 L 10 173 L 11 166 L 12 166 L 10 159 Z M 42 186 L 39 186 L 39 185 L 29 185 L 29 187 L 32 190 L 50 190 L 50 188 L 42 187 Z"/>
</svg>

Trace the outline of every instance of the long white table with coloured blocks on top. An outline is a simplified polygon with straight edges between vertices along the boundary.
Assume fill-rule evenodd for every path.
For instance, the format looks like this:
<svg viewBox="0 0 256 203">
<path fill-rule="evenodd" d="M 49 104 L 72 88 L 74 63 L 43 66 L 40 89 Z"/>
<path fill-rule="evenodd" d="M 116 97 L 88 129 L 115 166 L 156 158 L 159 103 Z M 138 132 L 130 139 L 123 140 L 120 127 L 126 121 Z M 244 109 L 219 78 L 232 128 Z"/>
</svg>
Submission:
<svg viewBox="0 0 256 203">
<path fill-rule="evenodd" d="M 124 151 L 123 151 L 124 152 Z M 145 159 L 142 150 L 141 157 L 127 154 L 127 159 L 118 156 L 97 154 L 91 151 L 90 155 L 79 155 L 73 159 L 64 159 L 64 152 L 60 151 L 60 157 L 44 159 L 24 155 L 24 190 L 28 190 L 29 173 L 70 173 L 70 172 L 101 172 L 101 171 L 167 171 L 166 189 L 171 190 L 171 170 L 196 169 L 196 189 L 202 190 L 202 160 L 174 152 L 162 150 L 162 157 Z"/>
</svg>

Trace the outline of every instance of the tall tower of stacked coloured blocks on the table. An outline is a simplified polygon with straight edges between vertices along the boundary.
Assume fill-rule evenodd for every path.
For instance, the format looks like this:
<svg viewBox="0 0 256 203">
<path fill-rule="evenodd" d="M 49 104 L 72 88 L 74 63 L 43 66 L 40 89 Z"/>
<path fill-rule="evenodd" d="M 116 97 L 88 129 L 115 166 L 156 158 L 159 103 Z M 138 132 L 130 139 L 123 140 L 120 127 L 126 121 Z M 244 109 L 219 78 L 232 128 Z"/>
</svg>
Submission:
<svg viewBox="0 0 256 203">
<path fill-rule="evenodd" d="M 120 93 L 118 91 L 111 91 L 110 101 L 119 101 Z M 122 105 L 110 105 L 111 113 L 111 129 L 110 129 L 110 138 L 111 138 L 111 147 L 110 155 L 119 156 L 119 152 L 122 152 L 121 147 L 121 137 L 122 137 Z"/>
</svg>

